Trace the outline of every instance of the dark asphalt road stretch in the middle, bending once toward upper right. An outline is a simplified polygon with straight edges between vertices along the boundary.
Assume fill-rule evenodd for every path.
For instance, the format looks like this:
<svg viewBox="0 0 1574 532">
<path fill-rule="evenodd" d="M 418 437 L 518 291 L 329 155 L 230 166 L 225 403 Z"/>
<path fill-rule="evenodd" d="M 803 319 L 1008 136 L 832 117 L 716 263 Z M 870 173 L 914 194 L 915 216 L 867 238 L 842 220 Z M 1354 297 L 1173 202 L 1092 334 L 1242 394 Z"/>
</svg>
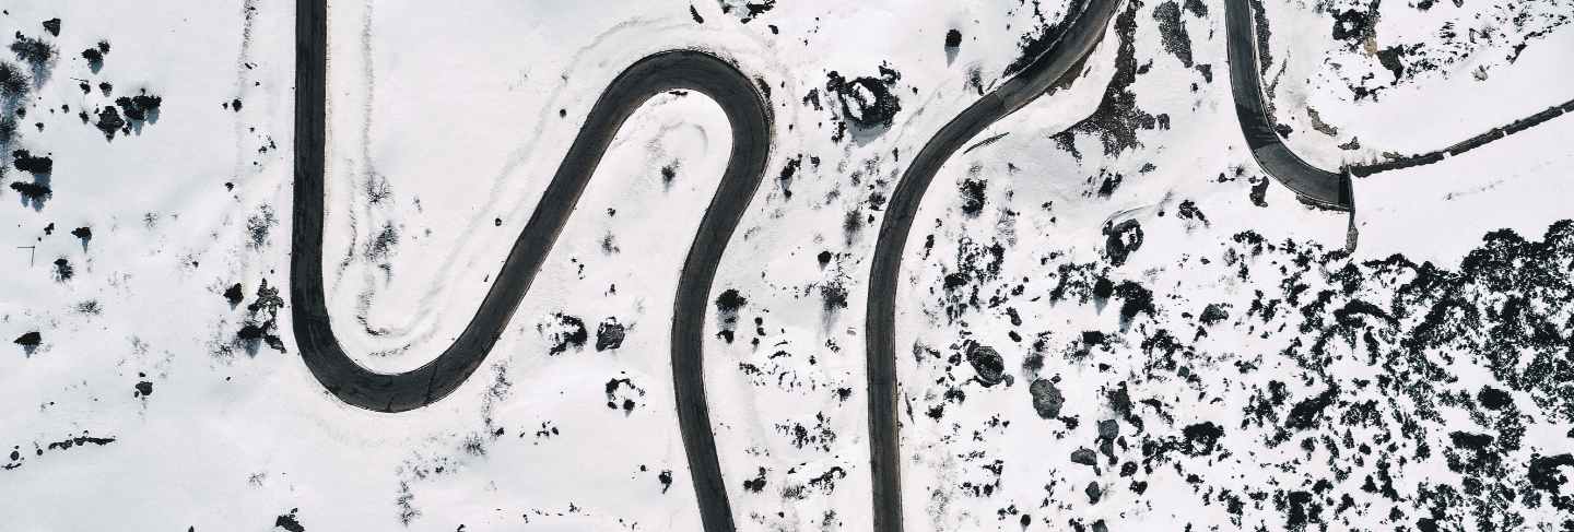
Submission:
<svg viewBox="0 0 1574 532">
<path fill-rule="evenodd" d="M 896 288 L 913 217 L 940 167 L 995 121 L 1006 118 L 1051 85 L 1077 76 L 1078 65 L 1103 38 L 1124 2 L 1073 2 L 1064 33 L 1015 77 L 979 98 L 924 143 L 891 194 L 869 272 L 866 356 L 869 364 L 869 461 L 874 474 L 874 530 L 902 530 L 902 456 L 897 425 Z"/>
</svg>

